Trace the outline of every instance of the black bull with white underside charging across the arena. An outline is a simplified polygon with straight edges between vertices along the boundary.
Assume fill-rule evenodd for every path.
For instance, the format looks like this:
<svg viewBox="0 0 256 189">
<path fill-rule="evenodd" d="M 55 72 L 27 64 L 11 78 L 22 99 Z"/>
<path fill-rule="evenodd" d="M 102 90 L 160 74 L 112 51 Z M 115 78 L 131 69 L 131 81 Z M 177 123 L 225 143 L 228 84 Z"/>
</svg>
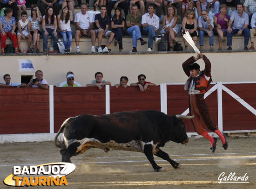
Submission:
<svg viewBox="0 0 256 189">
<path fill-rule="evenodd" d="M 61 149 L 62 162 L 90 148 L 138 151 L 146 155 L 155 171 L 162 171 L 155 156 L 167 160 L 175 169 L 179 163 L 170 159 L 159 149 L 169 140 L 186 144 L 189 142 L 182 119 L 192 116 L 168 116 L 155 110 L 120 112 L 94 116 L 90 114 L 71 117 L 64 121 L 54 143 Z M 63 141 L 57 140 L 63 131 Z"/>
</svg>

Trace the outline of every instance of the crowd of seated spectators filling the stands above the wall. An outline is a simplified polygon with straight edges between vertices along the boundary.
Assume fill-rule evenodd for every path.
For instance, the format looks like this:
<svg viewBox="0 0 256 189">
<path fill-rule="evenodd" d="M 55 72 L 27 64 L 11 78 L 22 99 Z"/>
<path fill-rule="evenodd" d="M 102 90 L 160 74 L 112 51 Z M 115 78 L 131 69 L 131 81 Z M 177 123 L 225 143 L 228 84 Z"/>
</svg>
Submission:
<svg viewBox="0 0 256 189">
<path fill-rule="evenodd" d="M 15 53 L 27 51 L 40 52 L 40 36 L 43 38 L 43 52 L 48 50 L 48 37 L 53 38 L 53 52 L 59 52 L 58 40 L 62 37 L 65 52 L 69 53 L 72 43 L 73 31 L 70 22 L 74 21 L 75 52 L 80 53 L 80 38 L 91 38 L 91 52 L 109 52 L 109 45 L 114 40 L 114 45 L 119 46 L 122 52 L 122 37 L 127 33 L 133 37 L 131 52 L 137 52 L 137 40 L 141 45 L 148 43 L 148 51 L 153 49 L 155 41 L 158 44 L 161 34 L 168 36 L 168 49 L 173 50 L 175 36 L 189 31 L 195 44 L 199 36 L 199 50 L 204 50 L 203 38 L 209 37 L 209 50 L 214 50 L 214 34 L 219 36 L 219 48 L 226 41 L 227 50 L 232 50 L 232 37 L 234 34 L 244 35 L 244 50 L 253 50 L 253 38 L 256 34 L 256 2 L 245 0 L 241 4 L 239 0 L 95 0 L 94 6 L 100 6 L 100 13 L 89 13 L 88 1 L 81 3 L 81 12 L 74 15 L 74 0 L 27 0 L 31 6 L 31 16 L 27 18 L 26 4 L 24 0 L 1 0 L 0 9 L 4 8 L 4 15 L 0 17 L 1 53 L 6 52 L 6 39 L 9 37 L 13 42 Z M 221 5 L 220 5 L 221 4 Z M 39 5 L 39 7 L 37 7 Z M 227 5 L 236 6 L 236 11 L 227 15 Z M 177 8 L 177 13 L 176 9 Z M 61 14 L 59 14 L 61 8 Z M 111 15 L 112 9 L 115 13 Z M 211 8 L 210 16 L 207 9 Z M 122 10 L 124 15 L 122 14 Z M 138 14 L 141 11 L 141 15 Z M 162 28 L 159 28 L 161 13 L 165 14 L 162 19 Z M 2 12 L 2 11 L 1 11 Z M 21 12 L 21 13 L 20 13 Z M 130 12 L 130 13 L 128 13 Z M 147 13 L 146 13 L 147 12 Z M 156 14 L 155 14 L 155 13 Z M 186 13 L 186 15 L 185 15 Z M 21 18 L 19 20 L 19 18 Z M 182 19 L 182 28 L 179 30 L 177 22 Z M 40 23 L 41 28 L 40 30 Z M 232 25 L 233 24 L 233 25 Z M 250 29 L 250 30 L 249 30 Z M 141 34 L 148 36 L 146 42 Z M 102 37 L 108 38 L 102 45 Z M 95 47 L 96 38 L 98 48 Z M 251 47 L 248 48 L 249 38 Z M 21 50 L 21 40 L 27 39 L 27 50 Z M 33 43 L 33 44 L 32 44 Z M 32 47 L 31 47 L 32 44 Z M 185 50 L 188 44 L 184 40 Z"/>
</svg>

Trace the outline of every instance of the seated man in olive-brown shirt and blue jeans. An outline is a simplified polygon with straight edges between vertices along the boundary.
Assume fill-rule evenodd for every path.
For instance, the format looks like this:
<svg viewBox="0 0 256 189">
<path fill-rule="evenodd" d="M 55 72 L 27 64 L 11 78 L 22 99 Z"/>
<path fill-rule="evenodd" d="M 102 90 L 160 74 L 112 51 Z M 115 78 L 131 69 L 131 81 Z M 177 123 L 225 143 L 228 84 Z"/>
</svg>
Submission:
<svg viewBox="0 0 256 189">
<path fill-rule="evenodd" d="M 137 40 L 140 39 L 141 45 L 147 44 L 141 37 L 141 15 L 138 15 L 138 5 L 132 6 L 132 13 L 128 14 L 126 17 L 127 33 L 133 36 L 133 50 L 132 52 L 137 52 Z"/>
</svg>

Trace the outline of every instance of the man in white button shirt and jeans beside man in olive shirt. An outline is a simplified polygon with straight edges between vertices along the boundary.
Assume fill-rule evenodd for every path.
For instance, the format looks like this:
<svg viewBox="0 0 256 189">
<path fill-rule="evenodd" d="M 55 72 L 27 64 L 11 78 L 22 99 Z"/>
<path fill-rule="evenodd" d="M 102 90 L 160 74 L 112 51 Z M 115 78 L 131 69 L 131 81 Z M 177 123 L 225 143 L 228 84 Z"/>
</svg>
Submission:
<svg viewBox="0 0 256 189">
<path fill-rule="evenodd" d="M 153 40 L 158 44 L 162 38 L 156 37 L 156 32 L 159 29 L 159 17 L 154 14 L 155 6 L 148 6 L 148 13 L 144 14 L 141 18 L 142 33 L 148 35 L 148 52 L 153 49 Z"/>
</svg>

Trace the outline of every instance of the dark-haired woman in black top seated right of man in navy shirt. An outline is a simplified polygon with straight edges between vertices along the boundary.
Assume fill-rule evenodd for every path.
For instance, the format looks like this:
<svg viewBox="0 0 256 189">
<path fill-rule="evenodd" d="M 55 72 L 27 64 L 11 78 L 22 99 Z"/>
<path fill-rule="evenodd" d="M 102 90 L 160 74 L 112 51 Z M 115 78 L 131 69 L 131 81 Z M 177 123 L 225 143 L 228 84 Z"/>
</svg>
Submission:
<svg viewBox="0 0 256 189">
<path fill-rule="evenodd" d="M 125 34 L 124 31 L 124 18 L 122 14 L 122 10 L 120 7 L 115 8 L 115 15 L 111 19 L 111 28 L 112 32 L 115 33 L 115 43 L 114 46 L 119 45 L 119 52 L 123 50 L 123 35 Z"/>
</svg>

